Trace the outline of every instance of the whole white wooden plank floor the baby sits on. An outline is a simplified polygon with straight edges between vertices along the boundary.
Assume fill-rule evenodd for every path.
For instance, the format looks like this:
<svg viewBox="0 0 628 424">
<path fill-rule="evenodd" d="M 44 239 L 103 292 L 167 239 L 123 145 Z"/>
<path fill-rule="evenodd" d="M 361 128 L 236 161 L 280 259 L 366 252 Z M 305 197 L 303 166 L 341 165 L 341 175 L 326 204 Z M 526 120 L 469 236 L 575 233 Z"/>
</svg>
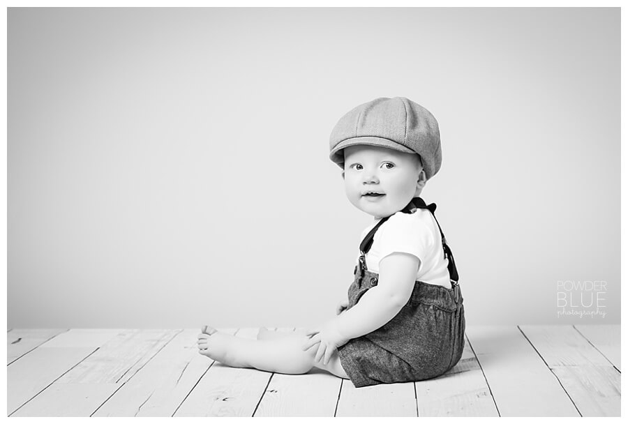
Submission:
<svg viewBox="0 0 628 424">
<path fill-rule="evenodd" d="M 618 325 L 467 326 L 463 358 L 444 376 L 364 388 L 320 370 L 225 367 L 197 353 L 198 333 L 10 330 L 8 414 L 620 416 Z"/>
</svg>

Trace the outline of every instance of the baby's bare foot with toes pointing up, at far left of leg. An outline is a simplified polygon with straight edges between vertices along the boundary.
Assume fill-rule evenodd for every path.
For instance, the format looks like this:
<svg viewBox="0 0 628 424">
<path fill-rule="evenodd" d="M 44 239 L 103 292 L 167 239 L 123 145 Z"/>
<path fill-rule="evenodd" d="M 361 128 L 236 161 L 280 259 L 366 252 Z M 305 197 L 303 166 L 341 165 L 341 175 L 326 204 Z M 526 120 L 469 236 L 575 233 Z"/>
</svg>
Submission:
<svg viewBox="0 0 628 424">
<path fill-rule="evenodd" d="M 241 338 L 227 333 L 220 333 L 216 328 L 203 326 L 198 335 L 198 353 L 208 356 L 230 367 L 248 368 L 249 365 L 242 361 L 238 353 L 246 349 L 246 342 Z"/>
</svg>

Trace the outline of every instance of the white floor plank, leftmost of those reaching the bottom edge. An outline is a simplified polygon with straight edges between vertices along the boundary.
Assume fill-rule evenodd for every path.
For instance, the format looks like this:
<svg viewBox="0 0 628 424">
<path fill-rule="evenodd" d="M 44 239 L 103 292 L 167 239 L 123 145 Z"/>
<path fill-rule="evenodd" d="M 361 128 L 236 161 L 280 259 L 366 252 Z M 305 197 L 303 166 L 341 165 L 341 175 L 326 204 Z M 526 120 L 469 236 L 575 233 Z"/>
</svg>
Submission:
<svg viewBox="0 0 628 424">
<path fill-rule="evenodd" d="M 119 333 L 18 409 L 14 416 L 89 416 L 179 332 Z"/>
</svg>

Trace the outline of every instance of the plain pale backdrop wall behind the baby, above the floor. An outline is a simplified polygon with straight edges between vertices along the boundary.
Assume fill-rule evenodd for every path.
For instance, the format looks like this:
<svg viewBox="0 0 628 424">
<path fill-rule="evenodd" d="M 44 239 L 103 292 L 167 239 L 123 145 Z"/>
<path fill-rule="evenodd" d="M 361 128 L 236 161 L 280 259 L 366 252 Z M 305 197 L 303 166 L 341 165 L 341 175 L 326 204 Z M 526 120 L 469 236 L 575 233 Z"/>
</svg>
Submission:
<svg viewBox="0 0 628 424">
<path fill-rule="evenodd" d="M 10 8 L 8 327 L 333 316 L 329 132 L 382 96 L 440 124 L 468 324 L 620 323 L 619 8 Z"/>
</svg>

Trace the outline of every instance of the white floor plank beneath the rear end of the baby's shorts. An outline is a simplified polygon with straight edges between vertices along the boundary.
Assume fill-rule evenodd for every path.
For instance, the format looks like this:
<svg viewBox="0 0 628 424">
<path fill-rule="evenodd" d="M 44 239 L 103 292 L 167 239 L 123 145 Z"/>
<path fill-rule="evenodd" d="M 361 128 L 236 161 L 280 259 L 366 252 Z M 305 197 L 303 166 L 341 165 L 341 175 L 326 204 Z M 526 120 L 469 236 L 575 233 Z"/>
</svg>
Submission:
<svg viewBox="0 0 628 424">
<path fill-rule="evenodd" d="M 499 416 L 469 341 L 460 361 L 441 377 L 416 381 L 419 416 Z"/>
</svg>

